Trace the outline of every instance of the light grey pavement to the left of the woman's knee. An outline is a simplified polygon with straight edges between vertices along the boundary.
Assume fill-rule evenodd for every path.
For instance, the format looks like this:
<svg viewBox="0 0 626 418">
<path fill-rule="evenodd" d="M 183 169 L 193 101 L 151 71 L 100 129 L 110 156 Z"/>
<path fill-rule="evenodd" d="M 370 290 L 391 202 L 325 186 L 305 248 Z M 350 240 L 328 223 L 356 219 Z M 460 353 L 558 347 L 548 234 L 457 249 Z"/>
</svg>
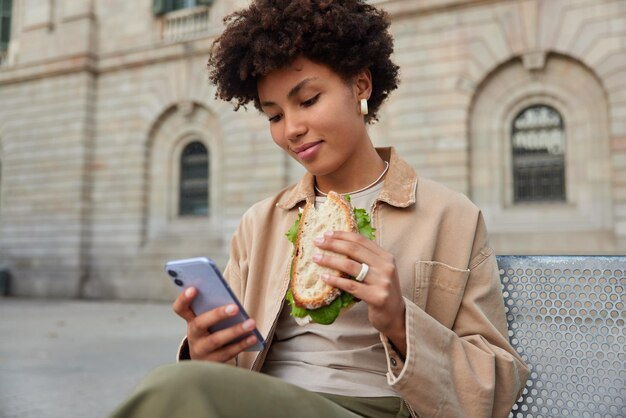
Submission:
<svg viewBox="0 0 626 418">
<path fill-rule="evenodd" d="M 107 417 L 184 333 L 168 303 L 0 297 L 0 418 Z"/>
</svg>

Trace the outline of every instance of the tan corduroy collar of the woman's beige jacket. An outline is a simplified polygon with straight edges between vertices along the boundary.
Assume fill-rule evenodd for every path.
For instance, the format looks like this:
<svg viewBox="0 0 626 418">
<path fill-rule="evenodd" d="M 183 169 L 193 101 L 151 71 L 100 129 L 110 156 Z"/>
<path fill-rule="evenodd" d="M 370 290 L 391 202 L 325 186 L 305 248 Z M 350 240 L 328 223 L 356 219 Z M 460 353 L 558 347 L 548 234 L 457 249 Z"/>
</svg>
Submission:
<svg viewBox="0 0 626 418">
<path fill-rule="evenodd" d="M 389 171 L 377 200 L 399 208 L 414 204 L 417 189 L 415 170 L 398 157 L 393 147 L 376 148 L 376 152 L 383 160 L 389 161 Z M 280 197 L 276 206 L 290 210 L 303 201 L 312 201 L 315 198 L 314 183 L 313 175 L 306 173 L 293 188 Z"/>
</svg>

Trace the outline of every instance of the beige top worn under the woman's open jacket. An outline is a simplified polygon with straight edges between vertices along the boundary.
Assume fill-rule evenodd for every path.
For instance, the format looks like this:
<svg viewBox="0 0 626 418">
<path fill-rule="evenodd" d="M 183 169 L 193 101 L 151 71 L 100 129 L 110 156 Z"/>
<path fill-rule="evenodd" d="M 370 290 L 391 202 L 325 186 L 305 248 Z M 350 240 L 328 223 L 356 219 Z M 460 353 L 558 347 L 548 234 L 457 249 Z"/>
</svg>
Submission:
<svg viewBox="0 0 626 418">
<path fill-rule="evenodd" d="M 370 213 L 383 188 L 351 195 L 355 208 Z M 325 197 L 316 197 L 316 205 Z M 300 326 L 283 306 L 274 341 L 262 372 L 314 392 L 345 396 L 398 396 L 387 384 L 387 359 L 379 332 L 367 318 L 367 305 L 359 302 L 341 312 L 332 325 Z"/>
</svg>

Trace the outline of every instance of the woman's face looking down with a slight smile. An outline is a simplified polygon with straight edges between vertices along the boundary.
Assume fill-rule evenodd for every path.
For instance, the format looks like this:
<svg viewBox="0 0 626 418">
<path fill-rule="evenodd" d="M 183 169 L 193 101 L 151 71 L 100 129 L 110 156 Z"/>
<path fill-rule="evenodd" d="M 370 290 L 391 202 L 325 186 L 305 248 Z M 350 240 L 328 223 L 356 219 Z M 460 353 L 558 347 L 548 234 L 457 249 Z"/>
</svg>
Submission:
<svg viewBox="0 0 626 418">
<path fill-rule="evenodd" d="M 300 57 L 258 83 L 274 142 L 313 175 L 352 174 L 350 161 L 365 149 L 359 101 L 369 97 L 371 83 L 366 73 L 364 89 L 359 77 L 348 83 L 327 66 Z"/>
</svg>

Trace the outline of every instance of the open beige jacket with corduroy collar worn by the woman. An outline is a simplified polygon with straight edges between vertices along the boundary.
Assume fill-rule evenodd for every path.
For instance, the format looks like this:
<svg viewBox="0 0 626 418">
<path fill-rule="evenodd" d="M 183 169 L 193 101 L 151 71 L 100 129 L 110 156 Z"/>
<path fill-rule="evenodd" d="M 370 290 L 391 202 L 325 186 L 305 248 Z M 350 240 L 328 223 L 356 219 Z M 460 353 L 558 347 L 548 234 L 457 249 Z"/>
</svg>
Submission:
<svg viewBox="0 0 626 418">
<path fill-rule="evenodd" d="M 506 417 L 528 368 L 509 345 L 498 267 L 481 212 L 462 194 L 418 178 L 391 148 L 373 207 L 376 242 L 394 255 L 406 302 L 407 356 L 381 335 L 388 383 L 420 417 Z M 268 341 L 237 365 L 260 370 L 289 285 L 285 233 L 314 198 L 310 174 L 243 216 L 225 276 Z M 331 325 L 332 326 L 332 325 Z M 188 357 L 185 344 L 179 358 Z"/>
</svg>

